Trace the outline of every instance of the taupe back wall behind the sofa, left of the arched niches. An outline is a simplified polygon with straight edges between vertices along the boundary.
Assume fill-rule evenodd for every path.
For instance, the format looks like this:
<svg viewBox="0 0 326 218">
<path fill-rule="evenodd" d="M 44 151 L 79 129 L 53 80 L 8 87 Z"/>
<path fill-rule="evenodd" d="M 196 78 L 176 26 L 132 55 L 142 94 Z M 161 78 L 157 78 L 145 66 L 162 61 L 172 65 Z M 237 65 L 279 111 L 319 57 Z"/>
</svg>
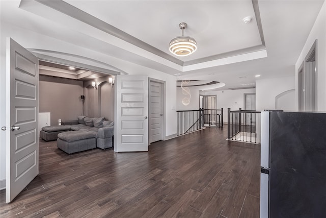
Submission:
<svg viewBox="0 0 326 218">
<path fill-rule="evenodd" d="M 71 120 L 83 113 L 83 82 L 39 76 L 39 112 L 51 113 L 51 125 L 58 119 Z"/>
</svg>

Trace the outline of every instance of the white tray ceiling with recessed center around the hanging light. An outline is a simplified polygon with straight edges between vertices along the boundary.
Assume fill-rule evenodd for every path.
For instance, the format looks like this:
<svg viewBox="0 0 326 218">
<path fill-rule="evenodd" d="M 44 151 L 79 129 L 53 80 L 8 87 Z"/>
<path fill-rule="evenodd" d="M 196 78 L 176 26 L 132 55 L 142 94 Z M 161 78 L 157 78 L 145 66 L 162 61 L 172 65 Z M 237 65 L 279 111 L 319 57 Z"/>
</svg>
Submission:
<svg viewBox="0 0 326 218">
<path fill-rule="evenodd" d="M 0 1 L 1 21 L 171 75 L 219 81 L 219 90 L 294 75 L 323 1 Z M 242 18 L 252 16 L 245 25 Z M 187 57 L 168 51 L 184 34 Z M 261 23 L 261 26 L 260 26 Z M 261 32 L 259 32 L 261 31 Z M 113 65 L 114 66 L 114 65 Z M 210 87 L 211 88 L 211 87 Z"/>
</svg>

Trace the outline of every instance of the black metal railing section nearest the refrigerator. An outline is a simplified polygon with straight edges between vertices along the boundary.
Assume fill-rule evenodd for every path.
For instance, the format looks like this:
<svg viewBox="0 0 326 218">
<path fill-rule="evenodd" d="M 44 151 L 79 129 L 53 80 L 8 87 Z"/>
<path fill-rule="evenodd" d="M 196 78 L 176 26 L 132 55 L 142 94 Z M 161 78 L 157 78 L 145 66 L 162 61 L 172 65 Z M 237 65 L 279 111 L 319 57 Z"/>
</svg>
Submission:
<svg viewBox="0 0 326 218">
<path fill-rule="evenodd" d="M 228 139 L 260 144 L 260 111 L 228 108 Z"/>
</svg>

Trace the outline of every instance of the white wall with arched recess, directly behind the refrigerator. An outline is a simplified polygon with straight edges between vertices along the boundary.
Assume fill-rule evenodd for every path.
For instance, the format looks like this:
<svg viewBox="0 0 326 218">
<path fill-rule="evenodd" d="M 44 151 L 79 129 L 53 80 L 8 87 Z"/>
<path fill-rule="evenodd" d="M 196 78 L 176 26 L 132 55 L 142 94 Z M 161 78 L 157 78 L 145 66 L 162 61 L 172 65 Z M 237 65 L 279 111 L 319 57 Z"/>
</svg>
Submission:
<svg viewBox="0 0 326 218">
<path fill-rule="evenodd" d="M 294 83 L 294 76 L 256 80 L 256 111 L 262 111 L 265 109 L 275 110 L 276 96 L 284 91 L 294 89 Z M 287 106 L 287 109 L 289 108 L 292 108 L 291 110 L 296 110 L 294 99 L 292 102 L 292 107 L 289 105 Z"/>
</svg>

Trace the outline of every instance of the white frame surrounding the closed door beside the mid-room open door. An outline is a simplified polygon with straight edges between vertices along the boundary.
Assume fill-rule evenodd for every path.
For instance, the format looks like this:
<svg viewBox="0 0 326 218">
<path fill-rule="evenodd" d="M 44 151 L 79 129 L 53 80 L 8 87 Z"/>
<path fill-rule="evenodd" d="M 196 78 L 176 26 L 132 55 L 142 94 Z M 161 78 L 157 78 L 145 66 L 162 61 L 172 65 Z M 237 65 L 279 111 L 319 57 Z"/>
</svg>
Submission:
<svg viewBox="0 0 326 218">
<path fill-rule="evenodd" d="M 165 137 L 165 120 L 166 120 L 166 110 L 165 110 L 165 105 L 166 105 L 166 95 L 165 95 L 165 90 L 166 90 L 166 82 L 163 81 L 163 80 L 158 80 L 158 79 L 154 79 L 154 78 L 151 78 L 149 77 L 148 78 L 148 93 L 150 93 L 150 82 L 155 82 L 155 83 L 160 83 L 162 85 L 162 113 L 163 113 L 163 117 L 162 117 L 162 132 L 161 132 L 161 138 L 162 140 L 166 140 L 166 137 Z M 148 110 L 150 108 L 150 98 L 148 98 Z M 149 120 L 151 120 L 151 117 L 150 117 L 150 112 L 148 111 L 148 145 L 150 145 L 150 134 L 149 134 L 149 131 L 150 131 L 150 122 Z"/>
</svg>

